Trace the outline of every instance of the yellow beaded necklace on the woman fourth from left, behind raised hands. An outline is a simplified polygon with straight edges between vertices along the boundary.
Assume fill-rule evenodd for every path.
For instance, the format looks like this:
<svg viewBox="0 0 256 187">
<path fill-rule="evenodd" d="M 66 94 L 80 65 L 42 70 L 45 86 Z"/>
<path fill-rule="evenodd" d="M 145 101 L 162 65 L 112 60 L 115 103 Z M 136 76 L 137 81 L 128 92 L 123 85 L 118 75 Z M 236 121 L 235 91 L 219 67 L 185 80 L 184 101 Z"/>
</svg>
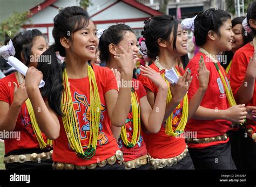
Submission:
<svg viewBox="0 0 256 187">
<path fill-rule="evenodd" d="M 156 64 L 156 66 L 159 68 L 160 74 L 161 76 L 164 78 L 165 82 L 170 85 L 170 83 L 166 80 L 165 78 L 165 70 L 161 64 L 159 63 L 158 60 L 154 61 L 154 64 Z M 176 68 L 175 68 L 176 69 Z M 177 74 L 180 76 L 179 71 L 177 71 Z M 172 93 L 171 93 L 171 89 L 169 87 L 168 89 L 168 93 L 167 93 L 167 100 L 166 103 L 169 103 L 172 100 Z M 183 133 L 185 126 L 187 124 L 187 118 L 188 118 L 188 97 L 187 94 L 184 96 L 183 98 L 183 109 L 182 109 L 182 114 L 181 114 L 181 118 L 179 121 L 179 125 L 176 128 L 176 131 L 173 132 L 173 128 L 172 128 L 172 116 L 173 116 L 173 112 L 171 113 L 171 115 L 167 118 L 167 120 L 165 121 L 165 134 L 166 135 L 171 135 L 171 136 L 178 136 L 181 133 Z"/>
</svg>

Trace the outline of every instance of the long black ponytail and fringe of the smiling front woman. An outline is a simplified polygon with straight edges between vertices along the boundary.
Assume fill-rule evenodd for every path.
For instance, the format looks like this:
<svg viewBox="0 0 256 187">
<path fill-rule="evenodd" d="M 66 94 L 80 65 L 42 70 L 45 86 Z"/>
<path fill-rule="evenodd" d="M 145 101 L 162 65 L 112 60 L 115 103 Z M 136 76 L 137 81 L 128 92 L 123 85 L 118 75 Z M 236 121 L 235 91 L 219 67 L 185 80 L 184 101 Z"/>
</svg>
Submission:
<svg viewBox="0 0 256 187">
<path fill-rule="evenodd" d="M 42 71 L 45 81 L 45 86 L 41 90 L 42 96 L 48 98 L 51 109 L 60 116 L 63 116 L 60 103 L 64 89 L 62 78 L 64 68 L 57 59 L 56 52 L 59 52 L 61 56 L 66 56 L 65 48 L 60 44 L 60 38 L 66 37 L 72 41 L 72 33 L 86 27 L 89 20 L 87 11 L 79 6 L 69 6 L 60 11 L 53 19 L 52 36 L 55 44 L 42 54 L 50 55 L 51 63 L 38 63 L 38 69 Z"/>
</svg>

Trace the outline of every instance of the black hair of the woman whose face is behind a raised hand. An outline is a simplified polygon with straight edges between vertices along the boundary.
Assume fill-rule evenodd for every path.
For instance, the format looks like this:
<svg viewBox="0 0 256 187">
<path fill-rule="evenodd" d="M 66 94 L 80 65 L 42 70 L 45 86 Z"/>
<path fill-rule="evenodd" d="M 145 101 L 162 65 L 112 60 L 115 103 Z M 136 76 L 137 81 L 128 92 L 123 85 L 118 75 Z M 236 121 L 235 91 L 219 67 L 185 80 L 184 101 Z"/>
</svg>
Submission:
<svg viewBox="0 0 256 187">
<path fill-rule="evenodd" d="M 120 41 L 123 40 L 127 31 L 134 33 L 130 26 L 125 24 L 117 24 L 110 26 L 103 32 L 99 39 L 99 57 L 101 61 L 108 63 L 107 61 L 109 61 L 110 56 L 109 45 L 117 45 Z"/>
</svg>

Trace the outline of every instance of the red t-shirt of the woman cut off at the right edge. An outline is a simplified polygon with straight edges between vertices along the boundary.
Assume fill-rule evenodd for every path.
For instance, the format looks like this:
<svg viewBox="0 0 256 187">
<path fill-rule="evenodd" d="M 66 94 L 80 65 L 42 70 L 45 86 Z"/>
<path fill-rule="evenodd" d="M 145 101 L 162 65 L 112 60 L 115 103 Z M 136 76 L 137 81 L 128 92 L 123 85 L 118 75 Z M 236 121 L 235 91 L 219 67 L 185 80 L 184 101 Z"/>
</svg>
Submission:
<svg viewBox="0 0 256 187">
<path fill-rule="evenodd" d="M 233 56 L 230 70 L 230 85 L 235 98 L 237 98 L 237 91 L 240 85 L 242 84 L 242 82 L 244 82 L 246 69 L 250 61 L 250 56 L 253 56 L 253 52 L 254 47 L 250 43 L 248 43 L 238 49 Z M 256 82 L 254 84 L 253 97 L 250 102 L 246 104 L 246 106 L 256 106 Z M 250 119 L 246 120 L 246 126 L 251 127 L 253 129 L 253 133 L 256 132 L 255 125 L 255 121 L 252 121 Z"/>
</svg>

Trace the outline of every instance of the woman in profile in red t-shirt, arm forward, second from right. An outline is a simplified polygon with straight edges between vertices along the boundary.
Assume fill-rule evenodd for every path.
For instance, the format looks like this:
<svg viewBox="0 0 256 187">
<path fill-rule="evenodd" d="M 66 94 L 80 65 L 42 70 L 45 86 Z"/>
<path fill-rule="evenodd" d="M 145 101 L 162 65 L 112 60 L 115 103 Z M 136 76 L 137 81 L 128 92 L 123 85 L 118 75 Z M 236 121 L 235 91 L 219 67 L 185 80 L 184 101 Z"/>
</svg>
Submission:
<svg viewBox="0 0 256 187">
<path fill-rule="evenodd" d="M 197 139 L 187 139 L 189 152 L 196 169 L 236 169 L 231 156 L 227 131 L 233 123 L 244 123 L 245 105 L 235 104 L 226 72 L 217 55 L 231 50 L 233 37 L 231 16 L 224 10 L 207 9 L 194 19 L 194 36 L 199 52 L 188 63 L 193 76 L 197 76 L 197 62 L 203 56 L 210 70 L 210 81 L 196 113 L 186 131 L 197 132 Z M 188 90 L 192 98 L 198 89 L 194 78 Z"/>
</svg>

